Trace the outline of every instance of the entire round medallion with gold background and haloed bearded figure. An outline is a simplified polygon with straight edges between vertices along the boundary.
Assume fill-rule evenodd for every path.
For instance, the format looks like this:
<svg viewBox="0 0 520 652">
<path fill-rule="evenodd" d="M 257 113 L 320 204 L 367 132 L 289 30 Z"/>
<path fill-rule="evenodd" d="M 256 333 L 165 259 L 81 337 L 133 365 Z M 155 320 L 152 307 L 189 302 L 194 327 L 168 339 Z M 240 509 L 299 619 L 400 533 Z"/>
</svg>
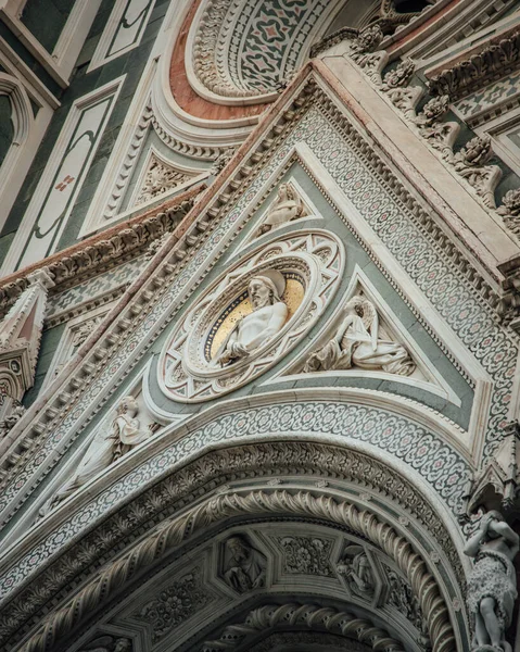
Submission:
<svg viewBox="0 0 520 652">
<path fill-rule="evenodd" d="M 206 401 L 271 367 L 322 313 L 343 259 L 335 236 L 318 230 L 272 240 L 242 259 L 174 330 L 158 364 L 163 392 Z"/>
</svg>

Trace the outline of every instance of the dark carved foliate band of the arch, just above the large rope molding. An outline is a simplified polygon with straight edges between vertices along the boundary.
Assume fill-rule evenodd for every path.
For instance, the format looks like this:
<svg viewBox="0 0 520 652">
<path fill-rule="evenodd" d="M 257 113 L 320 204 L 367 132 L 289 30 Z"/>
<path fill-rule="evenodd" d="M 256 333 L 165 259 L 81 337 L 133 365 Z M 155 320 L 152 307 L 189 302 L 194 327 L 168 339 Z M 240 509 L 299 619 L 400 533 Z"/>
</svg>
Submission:
<svg viewBox="0 0 520 652">
<path fill-rule="evenodd" d="M 118 554 L 128 537 L 139 531 L 151 531 L 166 517 L 189 505 L 193 496 L 202 498 L 215 487 L 218 491 L 238 477 L 257 479 L 294 475 L 303 480 L 327 477 L 331 484 L 334 479 L 354 482 L 379 493 L 382 502 L 399 505 L 428 529 L 429 536 L 442 549 L 456 582 L 461 588 L 465 586 L 465 573 L 448 530 L 417 487 L 394 469 L 358 451 L 331 444 L 309 441 L 248 443 L 212 451 L 166 476 L 134 498 L 131 503 L 119 506 L 94 529 L 83 530 L 83 537 L 36 577 L 22 564 L 16 566 L 15 562 L 11 562 L 9 567 L 12 572 L 21 573 L 27 580 L 25 587 L 20 587 L 16 595 L 1 610 L 0 639 L 5 640 L 14 632 L 20 636 L 29 618 L 37 620 L 43 617 L 50 600 L 66 600 L 67 593 L 73 590 L 71 587 L 77 586 L 78 577 L 88 577 L 93 569 Z M 80 494 L 77 498 L 80 500 Z M 85 513 L 74 504 L 67 504 L 66 510 L 72 515 Z M 55 517 L 60 523 L 60 511 L 55 512 Z M 58 528 L 60 526 L 61 523 Z M 56 532 L 52 521 L 46 527 L 48 531 Z M 35 551 L 35 544 L 30 550 Z M 88 575 L 84 576 L 85 573 Z"/>
</svg>

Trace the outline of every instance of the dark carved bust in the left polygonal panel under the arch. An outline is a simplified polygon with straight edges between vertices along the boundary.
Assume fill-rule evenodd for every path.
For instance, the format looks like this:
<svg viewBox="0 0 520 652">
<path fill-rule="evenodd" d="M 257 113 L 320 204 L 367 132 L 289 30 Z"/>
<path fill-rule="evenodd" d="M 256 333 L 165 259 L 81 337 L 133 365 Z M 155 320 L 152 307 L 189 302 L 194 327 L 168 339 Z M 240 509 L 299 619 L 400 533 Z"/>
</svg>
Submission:
<svg viewBox="0 0 520 652">
<path fill-rule="evenodd" d="M 266 559 L 243 537 L 230 537 L 226 541 L 225 555 L 224 579 L 236 591 L 243 593 L 265 585 Z"/>
</svg>

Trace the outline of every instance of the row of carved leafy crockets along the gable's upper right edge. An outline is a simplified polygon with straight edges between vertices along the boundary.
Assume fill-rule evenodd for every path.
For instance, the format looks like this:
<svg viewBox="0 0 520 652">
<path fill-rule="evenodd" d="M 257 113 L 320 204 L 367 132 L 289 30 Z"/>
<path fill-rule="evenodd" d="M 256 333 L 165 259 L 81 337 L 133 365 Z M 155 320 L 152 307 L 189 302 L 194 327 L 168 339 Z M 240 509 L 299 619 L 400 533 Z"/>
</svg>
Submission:
<svg viewBox="0 0 520 652">
<path fill-rule="evenodd" d="M 373 27 L 370 28 L 373 30 Z M 368 32 L 368 28 L 367 30 Z M 376 88 L 386 96 L 390 102 L 410 123 L 410 127 L 419 134 L 426 143 L 441 158 L 447 161 L 459 177 L 466 180 L 470 191 L 477 196 L 481 203 L 489 210 L 503 217 L 506 228 L 519 237 L 520 218 L 518 206 L 520 205 L 520 190 L 510 191 L 504 203 L 496 210 L 495 189 L 502 177 L 502 171 L 497 165 L 487 165 L 493 155 L 490 138 L 474 137 L 458 152 L 454 152 L 455 140 L 459 126 L 454 122 L 444 122 L 444 115 L 453 100 L 448 89 L 433 87 L 430 84 L 430 93 L 433 97 L 423 110 L 418 114 L 416 106 L 424 96 L 426 91 L 419 86 L 411 86 L 410 80 L 414 73 L 413 63 L 409 60 L 402 61 L 396 68 L 382 73 L 388 64 L 389 55 L 385 50 L 371 51 L 371 43 L 380 42 L 372 37 L 363 40 L 364 33 L 352 40 L 348 55 L 351 60 L 366 74 Z M 372 36 L 372 35 L 370 35 Z M 520 38 L 520 33 L 515 37 Z M 494 50 L 493 50 L 494 51 Z M 479 86 L 481 82 L 479 82 Z M 442 95 L 443 91 L 445 95 Z M 509 201 L 508 201 L 509 200 Z M 512 204 L 512 209 L 511 205 Z"/>
</svg>

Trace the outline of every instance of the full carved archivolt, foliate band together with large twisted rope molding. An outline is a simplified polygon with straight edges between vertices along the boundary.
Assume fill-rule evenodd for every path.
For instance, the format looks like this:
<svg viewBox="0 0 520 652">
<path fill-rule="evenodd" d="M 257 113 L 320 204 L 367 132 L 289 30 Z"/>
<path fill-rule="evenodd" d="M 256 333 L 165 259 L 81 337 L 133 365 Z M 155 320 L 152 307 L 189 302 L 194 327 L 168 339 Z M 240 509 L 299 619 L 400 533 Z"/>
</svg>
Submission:
<svg viewBox="0 0 520 652">
<path fill-rule="evenodd" d="M 465 575 L 458 542 L 417 487 L 359 451 L 270 441 L 213 450 L 165 473 L 71 542 L 4 606 L 3 642 L 13 651 L 68 650 L 64 645 L 71 636 L 86 631 L 92 613 L 105 613 L 132 582 L 140 587 L 143 576 L 170 555 L 192 551 L 198 537 L 212 528 L 244 519 L 296 521 L 302 531 L 307 531 L 306 523 L 316 523 L 348 532 L 388 557 L 410 587 L 435 652 L 452 651 L 465 637 L 464 618 L 454 609 L 454 601 L 461 602 Z M 46 523 L 49 532 L 52 519 Z M 188 552 L 183 564 L 190 560 Z M 219 564 L 214 559 L 212 567 Z M 302 604 L 308 586 L 303 593 Z M 56 606 L 49 611 L 51 599 Z M 346 609 L 329 606 L 338 613 Z M 28 622 L 38 625 L 22 641 Z"/>
</svg>

